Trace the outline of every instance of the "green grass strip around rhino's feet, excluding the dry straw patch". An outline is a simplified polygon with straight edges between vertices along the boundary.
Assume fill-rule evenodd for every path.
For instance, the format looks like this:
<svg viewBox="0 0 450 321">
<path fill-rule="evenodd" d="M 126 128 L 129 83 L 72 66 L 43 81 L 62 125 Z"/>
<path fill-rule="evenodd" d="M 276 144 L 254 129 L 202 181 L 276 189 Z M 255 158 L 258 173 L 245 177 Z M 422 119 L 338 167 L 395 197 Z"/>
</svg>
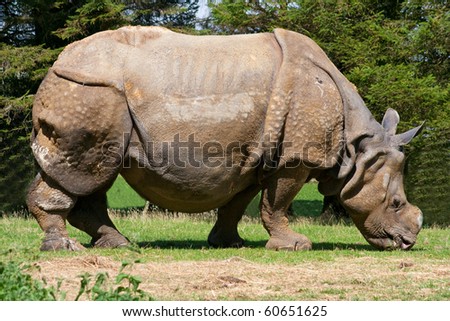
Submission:
<svg viewBox="0 0 450 321">
<path fill-rule="evenodd" d="M 412 251 L 380 252 L 373 249 L 352 225 L 321 225 L 310 220 L 296 221 L 291 227 L 307 235 L 313 242 L 313 251 L 302 255 L 291 255 L 290 252 L 267 251 L 264 248 L 268 239 L 262 224 L 246 218 L 239 225 L 240 235 L 246 240 L 244 249 L 211 249 L 207 244 L 207 236 L 212 228 L 213 220 L 197 218 L 195 214 L 181 217 L 142 216 L 135 212 L 129 217 L 113 216 L 117 228 L 132 242 L 128 251 L 89 249 L 90 253 L 115 253 L 121 259 L 134 260 L 133 253 L 142 259 L 159 258 L 171 261 L 178 260 L 216 260 L 225 259 L 229 255 L 243 254 L 244 259 L 264 263 L 269 260 L 275 263 L 295 264 L 299 260 L 334 260 L 337 257 L 373 255 L 376 257 L 416 257 L 416 258 L 450 258 L 450 234 L 448 229 L 426 228 L 421 231 L 418 242 Z M 90 237 L 68 226 L 71 237 L 85 246 L 89 246 Z M 36 259 L 71 255 L 65 252 L 39 252 L 43 232 L 34 219 L 2 218 L 0 220 L 0 253 L 2 258 L 17 259 L 21 262 L 33 262 Z M 20 235 L 20 238 L 17 237 Z M 281 254 L 280 254 L 281 253 Z M 31 254 L 31 255 L 30 255 Z M 144 256 L 141 256 L 145 254 Z M 76 255 L 76 254 L 75 254 Z"/>
</svg>

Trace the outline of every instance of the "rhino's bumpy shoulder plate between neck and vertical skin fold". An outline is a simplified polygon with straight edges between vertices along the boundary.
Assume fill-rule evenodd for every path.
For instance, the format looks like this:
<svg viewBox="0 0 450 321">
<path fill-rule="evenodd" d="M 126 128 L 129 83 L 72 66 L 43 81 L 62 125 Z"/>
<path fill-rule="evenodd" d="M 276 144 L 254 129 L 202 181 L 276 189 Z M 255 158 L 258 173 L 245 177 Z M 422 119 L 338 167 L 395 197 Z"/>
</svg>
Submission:
<svg viewBox="0 0 450 321">
<path fill-rule="evenodd" d="M 265 168 L 276 157 L 274 146 L 281 140 L 287 160 L 333 167 L 344 127 L 335 67 L 310 38 L 284 29 L 275 29 L 274 35 L 283 58 L 264 124 Z"/>
</svg>

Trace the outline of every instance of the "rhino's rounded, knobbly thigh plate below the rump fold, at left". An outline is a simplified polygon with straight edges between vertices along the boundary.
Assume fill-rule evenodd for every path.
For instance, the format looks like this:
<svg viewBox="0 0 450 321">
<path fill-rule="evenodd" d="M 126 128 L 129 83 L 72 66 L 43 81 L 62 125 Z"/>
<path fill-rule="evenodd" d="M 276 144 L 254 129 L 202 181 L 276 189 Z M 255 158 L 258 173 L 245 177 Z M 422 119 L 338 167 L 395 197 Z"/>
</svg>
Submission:
<svg viewBox="0 0 450 321">
<path fill-rule="evenodd" d="M 31 147 L 44 173 L 72 195 L 117 177 L 132 122 L 126 98 L 107 85 L 82 85 L 50 71 L 33 105 Z"/>
</svg>

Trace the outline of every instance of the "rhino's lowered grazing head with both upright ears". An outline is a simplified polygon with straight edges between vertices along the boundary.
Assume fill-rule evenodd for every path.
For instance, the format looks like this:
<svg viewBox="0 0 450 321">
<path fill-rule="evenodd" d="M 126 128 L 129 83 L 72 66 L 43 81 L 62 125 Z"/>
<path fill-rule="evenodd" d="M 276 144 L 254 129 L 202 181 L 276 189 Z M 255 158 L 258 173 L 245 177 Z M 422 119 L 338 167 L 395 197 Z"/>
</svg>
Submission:
<svg viewBox="0 0 450 321">
<path fill-rule="evenodd" d="M 400 118 L 388 109 L 382 129 L 358 140 L 352 171 L 340 191 L 342 205 L 364 238 L 378 249 L 410 249 L 422 227 L 421 210 L 403 188 L 405 155 L 401 146 L 422 128 L 395 134 Z"/>
</svg>

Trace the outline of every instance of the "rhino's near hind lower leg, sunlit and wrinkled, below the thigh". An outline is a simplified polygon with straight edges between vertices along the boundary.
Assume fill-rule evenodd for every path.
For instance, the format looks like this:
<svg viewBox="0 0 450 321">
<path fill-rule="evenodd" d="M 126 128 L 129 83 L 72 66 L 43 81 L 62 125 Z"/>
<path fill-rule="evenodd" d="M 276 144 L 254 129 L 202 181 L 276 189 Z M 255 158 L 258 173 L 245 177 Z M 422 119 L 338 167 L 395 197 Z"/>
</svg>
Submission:
<svg viewBox="0 0 450 321">
<path fill-rule="evenodd" d="M 28 191 L 27 205 L 45 232 L 41 251 L 84 249 L 79 242 L 69 238 L 66 230 L 66 218 L 76 200 L 76 196 L 63 191 L 48 176 L 36 176 Z"/>
</svg>

